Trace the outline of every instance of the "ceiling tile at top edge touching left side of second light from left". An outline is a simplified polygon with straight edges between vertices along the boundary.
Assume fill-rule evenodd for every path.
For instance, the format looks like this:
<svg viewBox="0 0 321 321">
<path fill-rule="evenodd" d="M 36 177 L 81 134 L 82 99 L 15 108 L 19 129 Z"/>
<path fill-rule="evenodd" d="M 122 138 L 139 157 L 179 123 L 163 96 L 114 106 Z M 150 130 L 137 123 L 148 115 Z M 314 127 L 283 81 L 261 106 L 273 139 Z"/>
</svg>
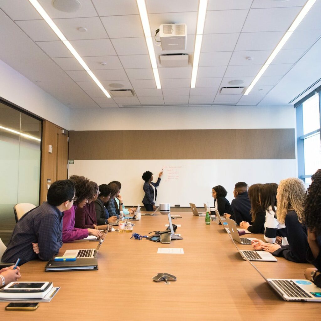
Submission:
<svg viewBox="0 0 321 321">
<path fill-rule="evenodd" d="M 100 16 L 118 16 L 120 14 L 138 14 L 136 1 L 128 1 L 128 0 L 108 1 L 108 5 L 106 5 L 106 0 L 92 0 L 92 3 L 94 4 Z"/>
</svg>

